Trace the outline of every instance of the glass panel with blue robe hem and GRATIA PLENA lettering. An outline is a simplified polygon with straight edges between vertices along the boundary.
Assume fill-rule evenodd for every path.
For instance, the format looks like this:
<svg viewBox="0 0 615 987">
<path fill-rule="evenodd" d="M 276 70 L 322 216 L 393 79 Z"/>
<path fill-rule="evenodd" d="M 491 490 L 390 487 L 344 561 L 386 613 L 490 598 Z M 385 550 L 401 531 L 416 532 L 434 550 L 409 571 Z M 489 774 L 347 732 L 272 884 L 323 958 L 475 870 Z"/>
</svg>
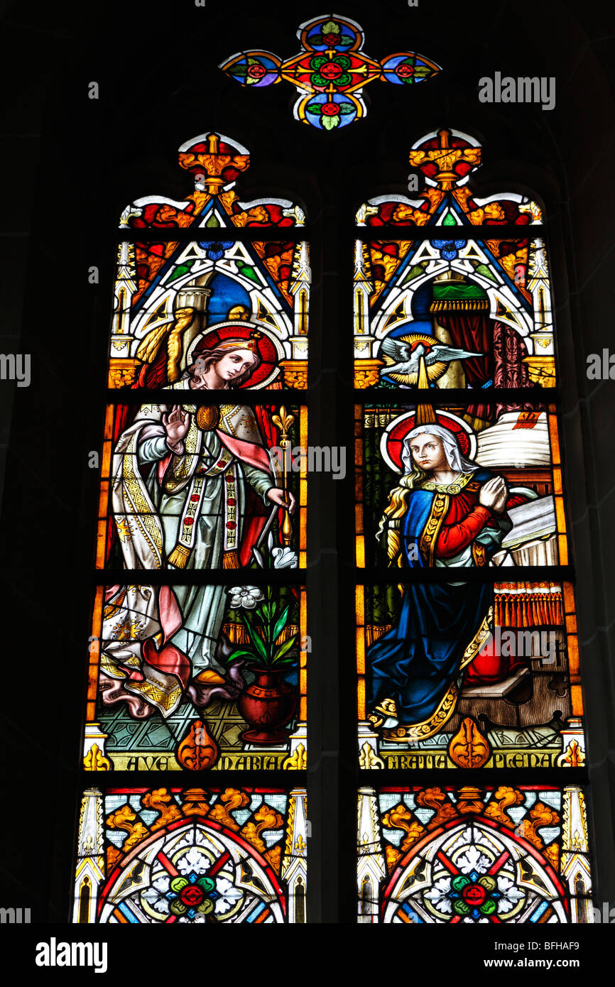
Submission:
<svg viewBox="0 0 615 987">
<path fill-rule="evenodd" d="M 359 756 L 389 768 L 584 761 L 570 582 L 356 587 Z M 466 623 L 472 612 L 470 626 Z M 444 616 L 446 614 L 446 616 Z M 422 644 L 419 644 L 419 639 Z M 423 650 L 422 650 L 423 649 Z M 421 660 L 422 678 L 400 665 Z M 376 730 L 374 752 L 365 747 Z M 369 745 L 368 745 L 369 746 Z"/>
</svg>

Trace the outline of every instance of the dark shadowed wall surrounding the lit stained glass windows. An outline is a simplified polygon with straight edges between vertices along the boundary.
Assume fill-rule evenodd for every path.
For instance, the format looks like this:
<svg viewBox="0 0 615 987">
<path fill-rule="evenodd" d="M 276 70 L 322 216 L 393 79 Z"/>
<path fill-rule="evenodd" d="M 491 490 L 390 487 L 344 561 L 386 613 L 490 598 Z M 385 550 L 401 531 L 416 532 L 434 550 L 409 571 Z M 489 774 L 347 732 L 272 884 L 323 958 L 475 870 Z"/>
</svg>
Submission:
<svg viewBox="0 0 615 987">
<path fill-rule="evenodd" d="M 326 133 L 293 119 L 289 84 L 245 90 L 216 67 L 243 47 L 298 51 L 298 25 L 327 13 L 312 0 L 3 6 L 0 348 L 32 354 L 32 383 L 0 382 L 0 905 L 30 907 L 37 923 L 69 917 L 98 485 L 87 462 L 101 441 L 119 211 L 141 195 L 182 198 L 190 176 L 177 148 L 199 133 L 217 129 L 250 149 L 240 196 L 292 198 L 310 221 L 310 442 L 351 448 L 354 210 L 375 194 L 407 193 L 411 144 L 441 126 L 482 142 L 476 194 L 522 191 L 545 205 L 595 900 L 615 904 L 615 381 L 585 375 L 586 356 L 613 338 L 612 9 L 594 0 L 337 4 L 363 28 L 367 54 L 409 48 L 444 71 L 409 89 L 372 83 L 366 117 Z M 480 104 L 478 81 L 496 71 L 555 76 L 555 109 Z M 91 81 L 98 101 L 88 99 Z M 88 283 L 93 265 L 98 285 Z M 322 923 L 355 914 L 351 503 L 349 477 L 311 478 L 308 914 Z"/>
</svg>

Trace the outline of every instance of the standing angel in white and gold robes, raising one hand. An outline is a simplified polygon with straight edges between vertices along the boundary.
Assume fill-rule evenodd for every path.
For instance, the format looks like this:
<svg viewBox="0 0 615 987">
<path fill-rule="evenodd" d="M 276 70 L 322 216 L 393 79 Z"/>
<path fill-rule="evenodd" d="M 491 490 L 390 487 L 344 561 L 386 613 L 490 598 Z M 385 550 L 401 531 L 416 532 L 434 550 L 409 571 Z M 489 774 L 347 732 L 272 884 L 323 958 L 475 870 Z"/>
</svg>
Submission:
<svg viewBox="0 0 615 987">
<path fill-rule="evenodd" d="M 230 390 L 260 365 L 259 334 L 197 355 L 174 390 Z M 231 397 L 231 396 L 230 396 Z M 259 419 L 258 416 L 261 415 Z M 239 569 L 250 562 L 267 507 L 294 508 L 279 485 L 262 409 L 230 402 L 143 405 L 120 434 L 111 495 L 126 569 Z M 260 510 L 256 502 L 261 502 Z M 270 511 L 269 511 L 270 513 Z M 112 586 L 103 627 L 104 702 L 168 717 L 243 685 L 219 658 L 226 590 L 213 584 Z"/>
</svg>

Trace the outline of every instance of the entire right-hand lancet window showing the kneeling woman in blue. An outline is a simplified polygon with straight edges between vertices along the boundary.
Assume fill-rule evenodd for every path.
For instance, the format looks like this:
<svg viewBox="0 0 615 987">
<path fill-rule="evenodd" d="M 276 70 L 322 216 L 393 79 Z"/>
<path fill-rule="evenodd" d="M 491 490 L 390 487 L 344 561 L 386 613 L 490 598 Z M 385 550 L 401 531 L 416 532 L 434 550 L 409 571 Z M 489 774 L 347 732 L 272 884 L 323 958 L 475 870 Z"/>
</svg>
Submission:
<svg viewBox="0 0 615 987">
<path fill-rule="evenodd" d="M 357 756 L 395 772 L 359 796 L 360 922 L 592 921 L 546 236 L 472 194 L 481 158 L 427 134 L 419 196 L 356 214 Z"/>
</svg>

